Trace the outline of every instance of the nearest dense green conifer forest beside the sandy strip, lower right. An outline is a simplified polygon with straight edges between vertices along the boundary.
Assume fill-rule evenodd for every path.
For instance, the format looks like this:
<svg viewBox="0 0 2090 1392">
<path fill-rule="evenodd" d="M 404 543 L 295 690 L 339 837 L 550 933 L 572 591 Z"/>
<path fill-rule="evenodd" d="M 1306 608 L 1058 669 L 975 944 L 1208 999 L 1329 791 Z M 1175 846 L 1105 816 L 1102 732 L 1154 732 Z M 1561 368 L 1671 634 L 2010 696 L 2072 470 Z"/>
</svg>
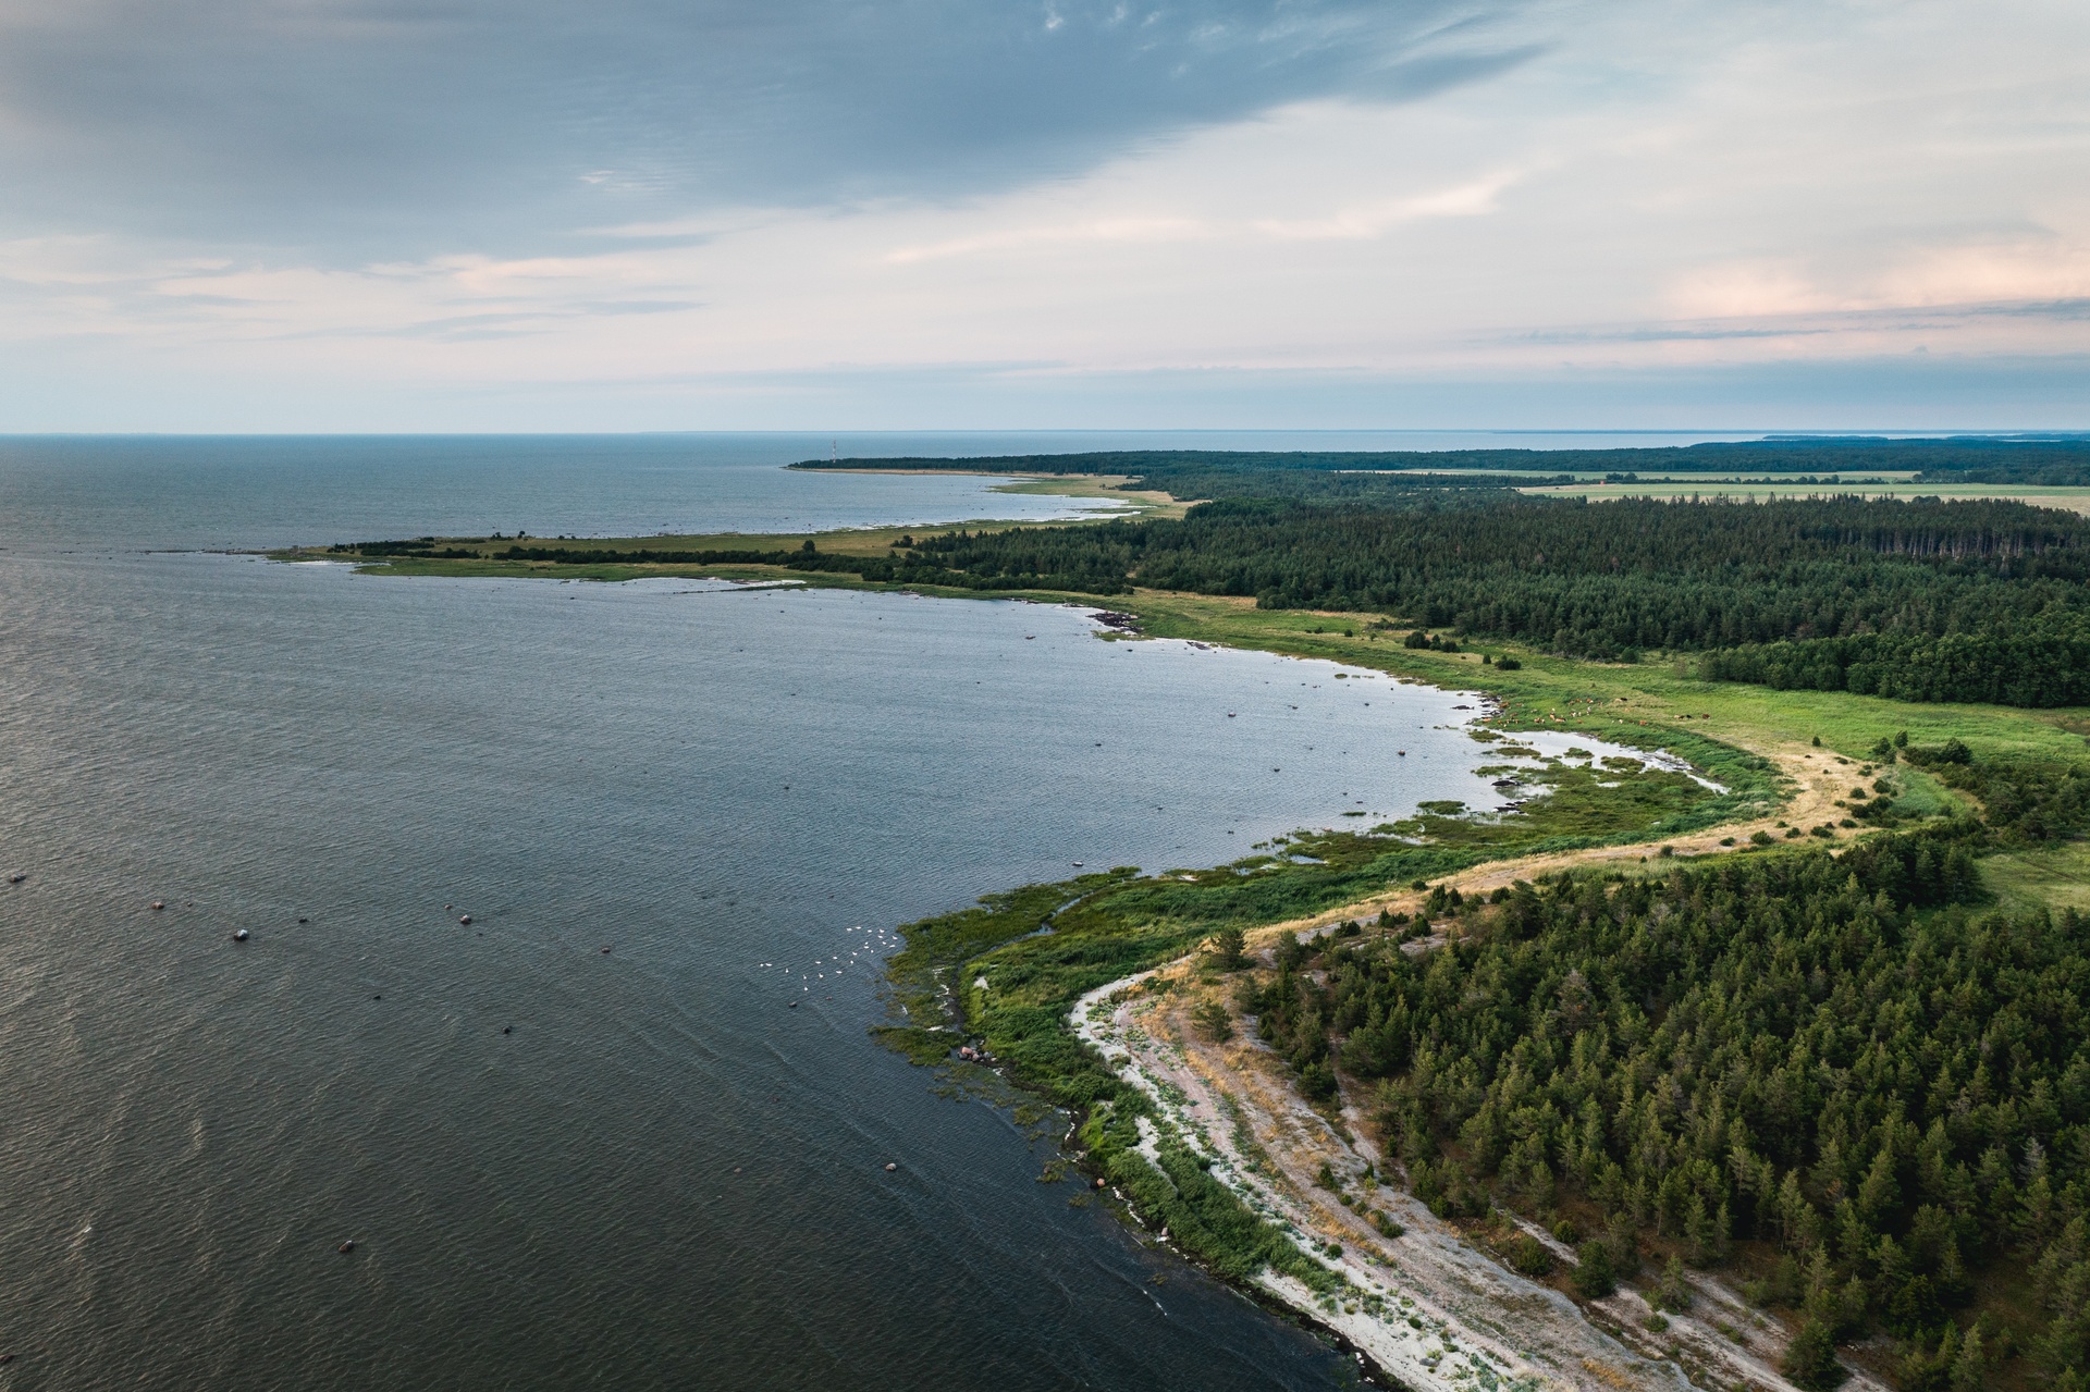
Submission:
<svg viewBox="0 0 2090 1392">
<path fill-rule="evenodd" d="M 1440 903 L 1463 930 L 1423 955 L 1287 941 L 1248 1003 L 1308 1093 L 1381 1078 L 1379 1127 L 1442 1214 L 1565 1219 L 1616 1277 L 1745 1258 L 1754 1298 L 1804 1315 L 1802 1354 L 1879 1329 L 1906 1388 L 1965 1386 L 1983 1325 L 1950 1310 L 2031 1271 L 2027 1352 L 2082 1386 L 2086 924 L 1975 895 L 1944 836 L 1559 878 Z M 1985 1338 L 1977 1373 L 2006 1354 Z"/>
</svg>

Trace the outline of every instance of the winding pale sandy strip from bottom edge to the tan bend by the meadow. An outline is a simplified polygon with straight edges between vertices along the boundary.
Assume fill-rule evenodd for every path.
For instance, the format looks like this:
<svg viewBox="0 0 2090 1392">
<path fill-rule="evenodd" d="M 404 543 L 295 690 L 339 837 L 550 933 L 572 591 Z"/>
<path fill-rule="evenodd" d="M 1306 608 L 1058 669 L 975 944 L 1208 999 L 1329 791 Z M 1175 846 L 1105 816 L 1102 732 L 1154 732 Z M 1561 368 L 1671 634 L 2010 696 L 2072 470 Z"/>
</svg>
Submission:
<svg viewBox="0 0 2090 1392">
<path fill-rule="evenodd" d="M 1396 679 L 1417 681 L 1411 673 L 1400 673 Z M 1465 694 L 1453 686 L 1440 690 Z M 1488 692 L 1471 694 L 1482 709 L 1469 727 L 1499 729 L 1515 738 L 1513 727 L 1519 721 L 1505 711 L 1501 698 Z M 1545 729 L 1542 723 L 1532 723 Z M 1576 738 L 1597 742 L 1588 732 L 1576 732 Z M 1822 801 L 1820 773 L 1831 755 L 1799 746 L 1737 752 L 1756 755 L 1776 769 L 1785 796 L 1770 805 L 1749 803 L 1745 811 L 1737 809 L 1741 815 L 1714 819 L 1685 836 L 1643 830 L 1595 844 L 1536 842 L 1524 855 L 1473 857 L 1442 882 L 1457 880 L 1467 892 L 1490 890 L 1522 876 L 1645 861 L 1657 842 L 1678 855 L 1722 855 L 1747 849 L 1749 842 L 1735 832 L 1768 828 L 1779 811 L 1816 811 L 1814 805 Z M 1814 767 L 1816 763 L 1822 767 Z M 1649 767 L 1676 771 L 1710 792 L 1728 792 L 1662 744 L 1651 750 Z M 1779 823 L 1783 826 L 1783 817 Z M 1344 901 L 1300 920 L 1264 924 L 1248 932 L 1250 955 L 1267 959 L 1285 932 L 1310 938 L 1344 920 L 1415 907 L 1419 901 L 1421 892 L 1413 888 L 1388 886 L 1386 892 Z M 1198 1156 L 1200 1168 L 1223 1183 L 1248 1212 L 1310 1250 L 1308 1260 L 1336 1275 L 1342 1290 L 1331 1296 L 1325 1287 L 1317 1290 L 1275 1267 L 1262 1267 L 1246 1279 L 1221 1271 L 1170 1242 L 1164 1216 L 1141 1212 L 1135 1196 L 1112 1185 L 1127 1214 L 1158 1229 L 1170 1250 L 1221 1279 L 1233 1279 L 1258 1302 L 1319 1327 L 1354 1350 L 1377 1379 L 1415 1392 L 1469 1388 L 1682 1392 L 1745 1386 L 1797 1392 L 1779 1373 L 1785 1331 L 1776 1323 L 1754 1319 L 1747 1306 L 1712 1277 L 1693 1281 L 1710 1308 L 1697 1317 L 1670 1317 L 1662 1338 L 1655 1338 L 1645 1327 L 1655 1308 L 1632 1287 L 1620 1285 L 1613 1296 L 1588 1302 L 1584 1310 L 1565 1294 L 1530 1281 L 1480 1252 L 1457 1225 L 1434 1216 L 1407 1189 L 1379 1183 L 1386 1158 L 1361 1135 L 1358 1108 L 1344 1108 L 1344 1124 L 1331 1124 L 1298 1095 L 1281 1062 L 1254 1039 L 1254 1022 L 1235 1007 L 1229 1005 L 1233 1045 L 1221 1047 L 1198 1039 L 1189 1005 L 1181 997 L 1147 991 L 1170 980 L 1195 980 L 1200 945 L 1189 943 L 1185 949 L 1158 966 L 1083 991 L 1062 1024 L 1081 1047 L 1091 1049 L 1118 1081 L 1137 1089 L 1150 1104 L 1152 1116 L 1135 1118 L 1139 1131 L 1135 1150 L 1150 1166 L 1158 1166 L 1166 1131 L 1166 1141 Z M 976 1028 L 966 999 L 984 993 L 984 976 L 974 980 L 972 989 L 945 982 L 938 991 L 938 1005 L 957 1020 L 957 1037 Z M 955 1037 L 945 1035 L 945 1039 Z M 918 1049 L 922 1043 L 928 1043 L 928 1049 L 915 1053 L 918 1062 L 938 1062 L 940 1041 L 918 1039 Z M 1001 1064 L 1001 1060 L 982 1053 L 980 1064 Z M 1022 1068 L 1007 1072 L 1020 1085 L 1035 1083 Z M 1074 1143 L 1076 1135 L 1089 1135 L 1089 1129 L 1070 1131 L 1070 1150 L 1085 1158 L 1093 1156 L 1093 1147 Z M 1386 1237 L 1367 1223 L 1365 1202 L 1352 1208 L 1340 1191 L 1317 1185 L 1310 1177 L 1317 1160 L 1333 1168 L 1338 1185 L 1369 1185 L 1371 1204 L 1407 1231 L 1400 1237 Z M 1110 1173 L 1108 1166 L 1101 1168 Z M 1517 1225 L 1572 1267 L 1574 1258 L 1565 1246 L 1522 1219 Z M 1329 1254 L 1325 1246 L 1329 1242 L 1340 1256 Z M 1885 1384 L 1862 1371 L 1854 1371 L 1845 1386 L 1852 1392 L 1885 1392 Z"/>
</svg>

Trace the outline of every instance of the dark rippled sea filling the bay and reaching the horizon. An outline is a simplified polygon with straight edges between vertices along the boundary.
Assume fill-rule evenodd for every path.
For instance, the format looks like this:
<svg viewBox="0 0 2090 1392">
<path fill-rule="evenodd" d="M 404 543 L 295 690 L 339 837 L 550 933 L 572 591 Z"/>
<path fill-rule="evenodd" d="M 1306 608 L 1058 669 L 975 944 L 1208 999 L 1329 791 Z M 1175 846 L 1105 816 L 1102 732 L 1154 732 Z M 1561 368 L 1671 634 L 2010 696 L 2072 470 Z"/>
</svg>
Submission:
<svg viewBox="0 0 2090 1392">
<path fill-rule="evenodd" d="M 805 443 L 0 449 L 0 1386 L 1344 1386 L 872 1045 L 876 957 L 1476 796 L 1455 696 L 1064 608 L 144 550 L 1009 502 L 761 458 Z"/>
</svg>

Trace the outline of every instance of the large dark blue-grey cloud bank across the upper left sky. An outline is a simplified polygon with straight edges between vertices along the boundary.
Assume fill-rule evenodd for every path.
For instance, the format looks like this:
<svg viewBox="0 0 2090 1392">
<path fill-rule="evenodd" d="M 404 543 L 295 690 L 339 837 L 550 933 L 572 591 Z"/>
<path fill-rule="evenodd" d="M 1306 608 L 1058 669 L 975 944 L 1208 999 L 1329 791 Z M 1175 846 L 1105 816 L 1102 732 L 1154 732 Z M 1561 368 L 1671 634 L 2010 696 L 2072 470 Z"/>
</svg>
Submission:
<svg viewBox="0 0 2090 1392">
<path fill-rule="evenodd" d="M 349 259 L 949 199 L 1528 52 L 1517 0 L 0 0 L 0 217 Z"/>
</svg>

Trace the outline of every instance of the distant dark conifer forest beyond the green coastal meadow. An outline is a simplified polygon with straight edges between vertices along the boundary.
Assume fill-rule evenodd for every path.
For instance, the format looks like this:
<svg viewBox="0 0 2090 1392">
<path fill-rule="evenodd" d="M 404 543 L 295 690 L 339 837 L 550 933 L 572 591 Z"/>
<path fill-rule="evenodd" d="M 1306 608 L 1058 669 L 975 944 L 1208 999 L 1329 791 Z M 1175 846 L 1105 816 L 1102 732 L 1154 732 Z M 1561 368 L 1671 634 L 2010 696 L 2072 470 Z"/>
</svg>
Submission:
<svg viewBox="0 0 2090 1392">
<path fill-rule="evenodd" d="M 2015 502 L 1235 500 L 924 537 L 895 558 L 907 566 L 976 587 L 1254 596 L 1599 660 L 1689 652 L 1708 677 L 1776 688 L 2090 702 L 2090 523 Z"/>
</svg>

